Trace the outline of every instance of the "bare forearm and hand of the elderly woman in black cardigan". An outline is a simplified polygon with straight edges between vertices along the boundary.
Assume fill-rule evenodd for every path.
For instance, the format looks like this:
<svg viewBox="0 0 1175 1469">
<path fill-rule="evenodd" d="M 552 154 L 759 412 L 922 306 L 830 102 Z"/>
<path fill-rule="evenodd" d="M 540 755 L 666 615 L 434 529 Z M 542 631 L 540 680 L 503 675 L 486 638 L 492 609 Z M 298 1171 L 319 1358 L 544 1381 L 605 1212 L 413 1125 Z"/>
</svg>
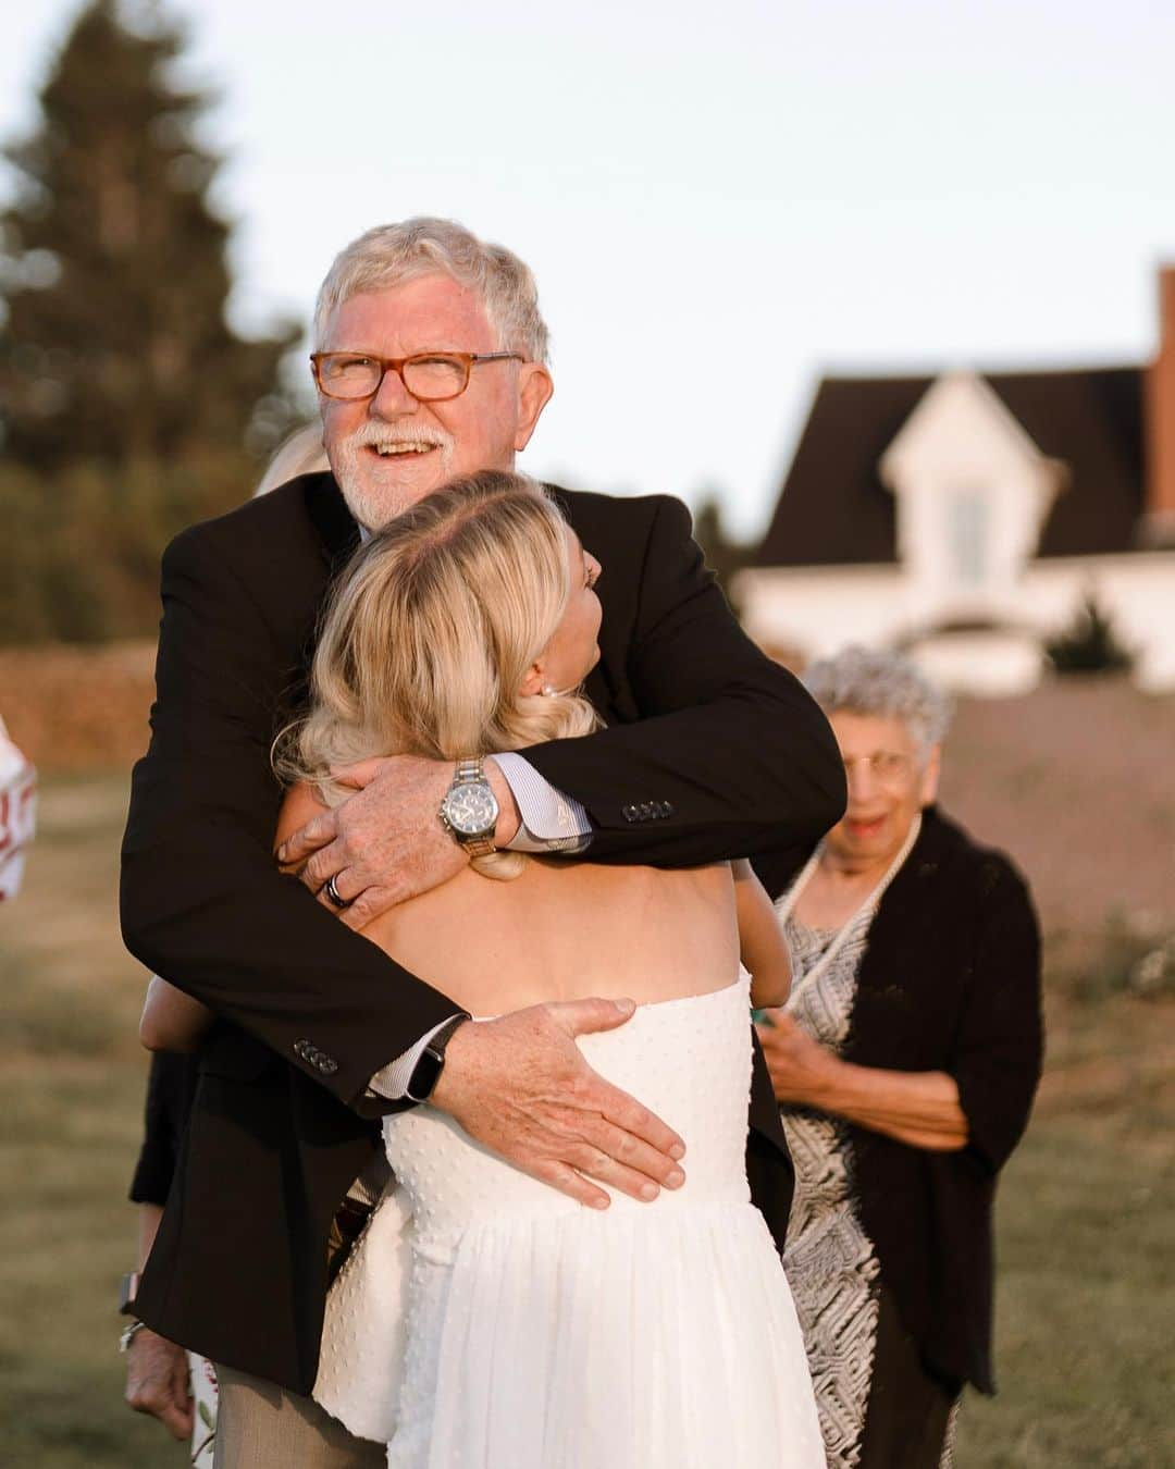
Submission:
<svg viewBox="0 0 1175 1469">
<path fill-rule="evenodd" d="M 887 1071 L 842 1061 L 787 1015 L 759 1027 L 776 1097 L 896 1137 L 911 1147 L 958 1152 L 969 1141 L 959 1087 L 944 1071 Z"/>
</svg>

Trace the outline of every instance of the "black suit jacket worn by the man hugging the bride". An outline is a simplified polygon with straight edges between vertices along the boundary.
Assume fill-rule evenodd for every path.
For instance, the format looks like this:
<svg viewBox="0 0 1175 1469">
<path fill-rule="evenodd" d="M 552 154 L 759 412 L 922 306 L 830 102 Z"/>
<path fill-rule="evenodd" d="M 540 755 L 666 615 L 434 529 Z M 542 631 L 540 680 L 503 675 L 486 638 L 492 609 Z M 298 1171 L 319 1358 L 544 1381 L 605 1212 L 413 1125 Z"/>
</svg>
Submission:
<svg viewBox="0 0 1175 1469">
<path fill-rule="evenodd" d="M 684 507 L 560 498 L 604 563 L 589 693 L 610 727 L 527 758 L 586 806 L 592 861 L 693 865 L 815 839 L 843 806 L 831 732 L 739 630 Z M 367 1083 L 452 1014 L 270 855 L 275 718 L 298 701 L 323 595 L 355 544 L 329 474 L 172 542 L 123 842 L 128 948 L 220 1017 L 140 1310 L 297 1391 L 316 1374 L 332 1215 L 370 1158 L 367 1116 L 395 1106 Z M 761 1059 L 749 1168 L 781 1238 L 790 1161 Z"/>
</svg>

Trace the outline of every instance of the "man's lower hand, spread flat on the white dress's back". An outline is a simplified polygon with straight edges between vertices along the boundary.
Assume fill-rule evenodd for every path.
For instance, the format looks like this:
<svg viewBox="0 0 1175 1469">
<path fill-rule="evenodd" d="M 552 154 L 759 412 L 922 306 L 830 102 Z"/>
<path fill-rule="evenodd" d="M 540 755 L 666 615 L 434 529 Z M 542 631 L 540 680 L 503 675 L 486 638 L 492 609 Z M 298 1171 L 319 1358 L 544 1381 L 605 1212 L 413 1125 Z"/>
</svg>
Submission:
<svg viewBox="0 0 1175 1469">
<path fill-rule="evenodd" d="M 590 1178 L 645 1202 L 680 1188 L 682 1138 L 576 1046 L 576 1036 L 615 1030 L 633 1011 L 632 1000 L 564 1000 L 470 1021 L 449 1040 L 430 1100 L 507 1162 L 593 1209 L 611 1200 Z"/>
</svg>

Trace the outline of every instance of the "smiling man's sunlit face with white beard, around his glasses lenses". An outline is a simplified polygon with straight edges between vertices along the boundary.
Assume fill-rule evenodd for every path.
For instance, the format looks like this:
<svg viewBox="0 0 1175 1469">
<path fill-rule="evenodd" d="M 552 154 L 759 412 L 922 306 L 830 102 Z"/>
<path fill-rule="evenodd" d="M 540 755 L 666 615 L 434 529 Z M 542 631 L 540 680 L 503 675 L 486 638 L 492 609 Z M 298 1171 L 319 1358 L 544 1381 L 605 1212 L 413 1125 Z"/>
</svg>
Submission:
<svg viewBox="0 0 1175 1469">
<path fill-rule="evenodd" d="M 451 276 L 429 275 L 350 297 L 328 323 L 323 351 L 379 357 L 448 350 L 499 351 L 480 298 Z M 386 524 L 461 474 L 514 467 L 552 385 L 539 363 L 476 363 L 458 398 L 420 403 L 395 372 L 373 398 L 319 394 L 323 444 L 351 514 Z"/>
</svg>

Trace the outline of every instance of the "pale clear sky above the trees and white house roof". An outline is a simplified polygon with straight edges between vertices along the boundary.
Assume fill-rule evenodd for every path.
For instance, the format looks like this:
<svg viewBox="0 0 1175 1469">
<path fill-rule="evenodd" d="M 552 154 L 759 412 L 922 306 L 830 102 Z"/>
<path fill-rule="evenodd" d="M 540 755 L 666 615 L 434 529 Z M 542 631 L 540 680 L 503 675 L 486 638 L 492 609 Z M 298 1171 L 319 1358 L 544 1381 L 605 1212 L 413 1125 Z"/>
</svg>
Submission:
<svg viewBox="0 0 1175 1469">
<path fill-rule="evenodd" d="M 0 137 L 76 0 L 10 6 Z M 762 530 L 821 372 L 1141 361 L 1175 260 L 1168 0 L 170 0 L 222 97 L 234 322 L 370 225 L 535 269 L 520 467 Z"/>
</svg>

